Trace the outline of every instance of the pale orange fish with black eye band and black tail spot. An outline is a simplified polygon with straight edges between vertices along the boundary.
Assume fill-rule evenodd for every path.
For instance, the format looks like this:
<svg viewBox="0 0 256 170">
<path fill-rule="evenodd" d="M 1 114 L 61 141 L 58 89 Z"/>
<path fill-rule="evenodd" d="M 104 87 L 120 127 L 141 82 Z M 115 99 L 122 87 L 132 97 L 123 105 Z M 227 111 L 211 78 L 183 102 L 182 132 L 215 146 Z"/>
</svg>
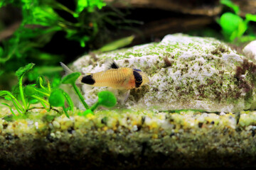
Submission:
<svg viewBox="0 0 256 170">
<path fill-rule="evenodd" d="M 60 62 L 65 72 L 72 72 Z M 103 72 L 89 73 L 78 78 L 78 83 L 91 86 L 108 86 L 113 89 L 130 90 L 149 82 L 149 77 L 140 69 L 119 67 L 114 61 L 109 62 L 109 69 Z"/>
</svg>

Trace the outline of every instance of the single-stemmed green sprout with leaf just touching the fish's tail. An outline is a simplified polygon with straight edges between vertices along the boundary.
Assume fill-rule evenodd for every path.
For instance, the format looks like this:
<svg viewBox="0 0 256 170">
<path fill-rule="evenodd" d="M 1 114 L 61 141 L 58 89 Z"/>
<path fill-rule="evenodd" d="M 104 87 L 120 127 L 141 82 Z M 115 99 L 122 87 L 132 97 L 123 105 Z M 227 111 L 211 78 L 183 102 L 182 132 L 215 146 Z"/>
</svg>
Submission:
<svg viewBox="0 0 256 170">
<path fill-rule="evenodd" d="M 83 106 L 85 106 L 86 109 L 89 109 L 89 106 L 87 103 L 85 103 L 85 99 L 82 97 L 82 94 L 78 87 L 75 85 L 75 81 L 80 77 L 80 72 L 73 72 L 71 74 L 68 74 L 67 76 L 63 77 L 62 83 L 63 84 L 71 84 L 75 90 L 75 93 L 78 94 L 78 97 L 80 98 L 80 101 L 82 102 Z"/>
</svg>

